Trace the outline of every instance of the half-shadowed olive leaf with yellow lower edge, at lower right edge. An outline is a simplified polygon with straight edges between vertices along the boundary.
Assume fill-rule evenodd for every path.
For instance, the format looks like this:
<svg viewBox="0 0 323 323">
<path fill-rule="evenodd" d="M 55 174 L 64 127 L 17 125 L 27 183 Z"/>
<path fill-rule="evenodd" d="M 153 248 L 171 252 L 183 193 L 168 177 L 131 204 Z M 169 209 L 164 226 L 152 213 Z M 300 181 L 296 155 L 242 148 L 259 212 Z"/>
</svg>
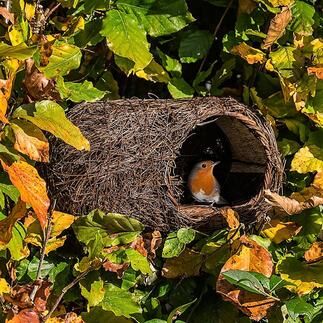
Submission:
<svg viewBox="0 0 323 323">
<path fill-rule="evenodd" d="M 305 264 L 294 255 L 281 258 L 276 266 L 280 277 L 294 285 L 286 286 L 299 295 L 311 293 L 314 288 L 323 287 L 323 261 Z"/>
</svg>

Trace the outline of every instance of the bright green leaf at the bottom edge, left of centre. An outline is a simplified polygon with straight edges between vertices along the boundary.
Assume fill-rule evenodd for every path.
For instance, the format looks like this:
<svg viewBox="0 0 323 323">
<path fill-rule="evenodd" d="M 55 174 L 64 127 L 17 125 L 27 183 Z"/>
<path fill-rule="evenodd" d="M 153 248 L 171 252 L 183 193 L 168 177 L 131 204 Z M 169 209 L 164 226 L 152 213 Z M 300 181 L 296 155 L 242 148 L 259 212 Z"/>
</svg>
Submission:
<svg viewBox="0 0 323 323">
<path fill-rule="evenodd" d="M 105 285 L 102 308 L 113 312 L 116 316 L 127 318 L 130 318 L 132 314 L 142 312 L 138 297 L 110 283 Z"/>
</svg>

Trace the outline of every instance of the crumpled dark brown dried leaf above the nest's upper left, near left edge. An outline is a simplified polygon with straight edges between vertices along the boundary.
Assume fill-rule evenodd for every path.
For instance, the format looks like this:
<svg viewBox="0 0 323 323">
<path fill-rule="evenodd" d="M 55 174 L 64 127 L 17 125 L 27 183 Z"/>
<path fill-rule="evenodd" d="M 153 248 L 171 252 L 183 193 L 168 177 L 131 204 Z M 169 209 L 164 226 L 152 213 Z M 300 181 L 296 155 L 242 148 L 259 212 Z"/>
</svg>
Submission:
<svg viewBox="0 0 323 323">
<path fill-rule="evenodd" d="M 55 88 L 55 81 L 48 79 L 35 66 L 34 60 L 26 60 L 25 87 L 28 95 L 33 100 L 54 99 L 59 100 L 60 96 Z"/>
</svg>

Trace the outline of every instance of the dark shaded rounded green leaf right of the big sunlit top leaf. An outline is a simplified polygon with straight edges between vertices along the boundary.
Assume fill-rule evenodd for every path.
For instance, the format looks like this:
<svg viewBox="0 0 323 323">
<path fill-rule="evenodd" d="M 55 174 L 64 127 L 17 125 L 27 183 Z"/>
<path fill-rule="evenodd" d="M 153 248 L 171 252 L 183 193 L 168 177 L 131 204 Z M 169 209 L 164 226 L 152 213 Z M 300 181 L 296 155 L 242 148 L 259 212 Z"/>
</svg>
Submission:
<svg viewBox="0 0 323 323">
<path fill-rule="evenodd" d="M 213 37 L 206 30 L 196 30 L 184 34 L 179 45 L 179 56 L 182 63 L 194 63 L 202 59 L 213 42 Z"/>
</svg>

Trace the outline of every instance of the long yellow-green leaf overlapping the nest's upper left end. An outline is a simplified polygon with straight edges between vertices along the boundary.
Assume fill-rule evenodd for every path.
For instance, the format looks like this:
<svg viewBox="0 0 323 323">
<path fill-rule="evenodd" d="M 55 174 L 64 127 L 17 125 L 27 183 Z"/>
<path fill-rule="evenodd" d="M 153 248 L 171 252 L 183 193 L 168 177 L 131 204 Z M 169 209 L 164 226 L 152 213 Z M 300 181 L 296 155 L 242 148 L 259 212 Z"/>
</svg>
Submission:
<svg viewBox="0 0 323 323">
<path fill-rule="evenodd" d="M 32 122 L 76 149 L 90 150 L 90 144 L 79 128 L 66 118 L 64 109 L 54 101 L 22 105 L 15 110 L 13 117 Z"/>
</svg>

